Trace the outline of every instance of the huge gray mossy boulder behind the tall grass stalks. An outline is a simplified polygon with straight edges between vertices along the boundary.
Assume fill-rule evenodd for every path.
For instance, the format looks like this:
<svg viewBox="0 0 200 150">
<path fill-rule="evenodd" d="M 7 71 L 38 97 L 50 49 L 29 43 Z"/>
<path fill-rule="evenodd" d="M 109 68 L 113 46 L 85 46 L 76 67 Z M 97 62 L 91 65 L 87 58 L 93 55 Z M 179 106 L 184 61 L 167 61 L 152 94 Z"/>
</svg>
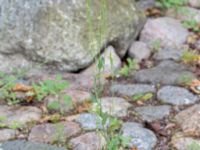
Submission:
<svg viewBox="0 0 200 150">
<path fill-rule="evenodd" d="M 107 7 L 92 1 L 91 8 L 87 6 L 86 0 L 0 0 L 0 63 L 7 65 L 0 69 L 39 63 L 77 71 L 109 42 L 120 56 L 125 55 L 145 20 L 134 0 L 108 0 Z M 103 17 L 102 9 L 106 9 Z M 105 34 L 99 35 L 99 26 Z M 18 62 L 12 63 L 12 58 Z"/>
</svg>

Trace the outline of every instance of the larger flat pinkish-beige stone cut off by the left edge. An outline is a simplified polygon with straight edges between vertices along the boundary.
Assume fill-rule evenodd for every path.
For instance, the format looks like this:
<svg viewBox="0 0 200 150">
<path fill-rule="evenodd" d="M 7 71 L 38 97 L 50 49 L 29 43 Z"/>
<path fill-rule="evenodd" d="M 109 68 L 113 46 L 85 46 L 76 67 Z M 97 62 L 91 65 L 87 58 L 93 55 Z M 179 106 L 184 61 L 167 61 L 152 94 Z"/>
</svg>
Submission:
<svg viewBox="0 0 200 150">
<path fill-rule="evenodd" d="M 14 107 L 0 105 L 1 124 L 20 128 L 28 122 L 37 122 L 42 117 L 42 111 L 37 107 Z"/>
</svg>

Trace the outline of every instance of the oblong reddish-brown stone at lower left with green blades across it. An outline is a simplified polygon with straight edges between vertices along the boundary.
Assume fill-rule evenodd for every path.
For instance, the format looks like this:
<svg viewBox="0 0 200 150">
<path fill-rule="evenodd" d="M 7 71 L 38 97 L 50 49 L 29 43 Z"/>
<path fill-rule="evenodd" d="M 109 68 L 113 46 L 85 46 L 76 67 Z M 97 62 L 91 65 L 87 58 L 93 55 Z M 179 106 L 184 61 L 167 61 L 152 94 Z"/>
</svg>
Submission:
<svg viewBox="0 0 200 150">
<path fill-rule="evenodd" d="M 80 132 L 80 126 L 74 122 L 46 123 L 34 126 L 31 129 L 28 140 L 41 143 L 63 143 Z"/>
</svg>

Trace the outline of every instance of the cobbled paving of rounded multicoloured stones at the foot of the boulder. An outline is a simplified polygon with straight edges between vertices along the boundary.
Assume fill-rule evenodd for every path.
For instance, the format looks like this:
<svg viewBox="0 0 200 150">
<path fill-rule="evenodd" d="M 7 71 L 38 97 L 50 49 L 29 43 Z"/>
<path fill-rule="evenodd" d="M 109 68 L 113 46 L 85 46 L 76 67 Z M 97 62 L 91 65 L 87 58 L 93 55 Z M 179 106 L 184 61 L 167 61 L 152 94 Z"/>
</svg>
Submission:
<svg viewBox="0 0 200 150">
<path fill-rule="evenodd" d="M 146 7 L 147 4 L 143 2 L 141 5 Z M 152 5 L 152 2 L 150 4 Z M 190 0 L 189 4 L 194 7 L 189 9 L 198 13 L 195 19 L 199 21 L 199 3 Z M 138 63 L 153 61 L 153 66 L 134 71 L 125 82 L 116 79 L 110 83 L 106 77 L 100 79 L 106 87 L 103 90 L 106 94 L 99 97 L 99 105 L 91 103 L 94 92 L 92 76 L 97 62 L 79 74 L 63 75 L 71 86 L 62 94 L 71 96 L 72 106 L 66 106 L 58 95 L 45 98 L 44 107 L 52 102 L 61 105 L 59 110 L 51 110 L 56 114 L 63 113 L 64 119 L 60 122 L 41 121 L 47 114 L 41 107 L 0 104 L 0 150 L 105 149 L 108 140 L 100 131 L 108 129 L 112 122 L 105 121 L 94 113 L 93 110 L 99 107 L 102 113 L 122 122 L 118 132 L 123 137 L 130 138 L 127 149 L 167 150 L 159 147 L 162 143 L 161 132 L 156 129 L 161 126 L 164 126 L 163 131 L 169 131 L 174 126 L 178 129 L 169 131 L 174 134 L 169 134 L 170 139 L 166 146 L 172 147 L 167 148 L 188 150 L 188 145 L 192 142 L 200 144 L 200 97 L 187 86 L 182 86 L 183 77 L 198 79 L 195 71 L 181 62 L 185 52 L 183 45 L 190 34 L 180 23 L 180 20 L 185 19 L 181 17 L 178 20 L 171 15 L 148 19 L 138 41 L 132 42 L 127 55 L 135 58 Z M 160 50 L 154 52 L 150 43 L 158 39 Z M 102 53 L 105 59 L 105 76 L 116 72 L 122 66 L 122 60 L 115 48 L 110 45 L 107 49 L 108 51 Z M 109 61 L 111 56 L 113 66 Z M 114 67 L 112 70 L 111 66 Z M 51 77 L 47 74 L 41 78 Z M 32 77 L 30 80 L 37 79 Z M 149 93 L 152 94 L 149 101 L 133 101 L 134 96 L 145 96 Z M 91 103 L 91 109 L 71 114 L 79 105 L 87 102 Z"/>
</svg>

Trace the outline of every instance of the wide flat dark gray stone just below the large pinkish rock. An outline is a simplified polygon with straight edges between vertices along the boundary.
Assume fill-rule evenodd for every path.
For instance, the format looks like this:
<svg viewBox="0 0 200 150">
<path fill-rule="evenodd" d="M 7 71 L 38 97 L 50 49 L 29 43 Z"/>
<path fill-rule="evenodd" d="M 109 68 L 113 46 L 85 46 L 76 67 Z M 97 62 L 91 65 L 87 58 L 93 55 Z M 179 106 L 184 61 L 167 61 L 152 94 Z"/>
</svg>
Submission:
<svg viewBox="0 0 200 150">
<path fill-rule="evenodd" d="M 140 83 L 175 85 L 181 82 L 183 76 L 188 79 L 195 78 L 195 75 L 184 65 L 173 61 L 163 61 L 156 67 L 136 72 L 133 78 Z"/>
</svg>

